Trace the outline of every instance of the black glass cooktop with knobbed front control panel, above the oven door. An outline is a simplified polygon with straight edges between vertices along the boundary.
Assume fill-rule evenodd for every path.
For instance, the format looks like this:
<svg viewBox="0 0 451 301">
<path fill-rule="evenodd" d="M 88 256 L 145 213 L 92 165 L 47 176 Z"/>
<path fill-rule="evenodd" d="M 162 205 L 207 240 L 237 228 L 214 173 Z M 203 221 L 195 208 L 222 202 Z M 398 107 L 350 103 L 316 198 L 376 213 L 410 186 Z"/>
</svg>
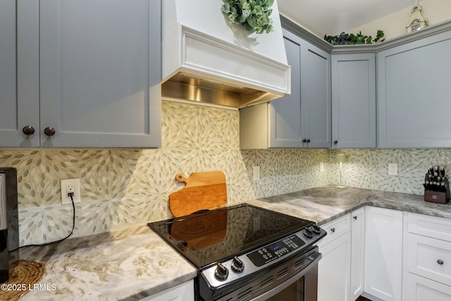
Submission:
<svg viewBox="0 0 451 301">
<path fill-rule="evenodd" d="M 242 285 L 239 283 L 243 279 L 308 252 L 326 235 L 312 221 L 250 204 L 156 221 L 148 226 L 197 267 L 196 294 L 207 290 L 197 300 L 216 300 L 222 291 Z"/>
</svg>

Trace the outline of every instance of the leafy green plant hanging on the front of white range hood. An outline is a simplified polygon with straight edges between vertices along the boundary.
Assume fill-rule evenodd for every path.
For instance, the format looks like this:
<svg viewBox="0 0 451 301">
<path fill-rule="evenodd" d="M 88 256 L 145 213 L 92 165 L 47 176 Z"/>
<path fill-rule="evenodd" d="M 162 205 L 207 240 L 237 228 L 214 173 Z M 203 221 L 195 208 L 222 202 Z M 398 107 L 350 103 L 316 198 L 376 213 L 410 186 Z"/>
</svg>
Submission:
<svg viewBox="0 0 451 301">
<path fill-rule="evenodd" d="M 230 23 L 240 23 L 246 30 L 257 33 L 271 32 L 274 0 L 223 0 L 221 11 L 228 15 Z"/>
</svg>

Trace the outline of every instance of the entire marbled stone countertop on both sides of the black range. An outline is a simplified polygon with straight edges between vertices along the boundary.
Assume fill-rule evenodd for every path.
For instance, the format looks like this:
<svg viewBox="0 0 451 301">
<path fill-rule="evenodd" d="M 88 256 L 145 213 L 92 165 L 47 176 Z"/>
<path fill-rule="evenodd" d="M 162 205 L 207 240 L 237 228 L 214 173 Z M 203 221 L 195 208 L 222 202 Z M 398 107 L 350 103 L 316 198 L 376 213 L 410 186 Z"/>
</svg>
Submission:
<svg viewBox="0 0 451 301">
<path fill-rule="evenodd" d="M 451 219 L 451 203 L 422 196 L 333 185 L 249 202 L 320 225 L 366 205 Z M 20 259 L 44 262 L 40 283 L 56 290 L 33 290 L 23 300 L 138 300 L 189 281 L 196 269 L 147 225 L 73 238 L 45 247 L 26 247 Z"/>
</svg>

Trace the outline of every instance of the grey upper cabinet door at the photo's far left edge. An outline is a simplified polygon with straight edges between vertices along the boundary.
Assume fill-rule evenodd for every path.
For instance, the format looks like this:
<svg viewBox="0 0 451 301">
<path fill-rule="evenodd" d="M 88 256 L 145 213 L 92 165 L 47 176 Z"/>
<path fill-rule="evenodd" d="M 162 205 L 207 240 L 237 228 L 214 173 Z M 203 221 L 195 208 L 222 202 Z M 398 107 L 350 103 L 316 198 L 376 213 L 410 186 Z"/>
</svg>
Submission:
<svg viewBox="0 0 451 301">
<path fill-rule="evenodd" d="M 37 0 L 1 1 L 0 147 L 39 147 L 38 8 Z"/>
</svg>

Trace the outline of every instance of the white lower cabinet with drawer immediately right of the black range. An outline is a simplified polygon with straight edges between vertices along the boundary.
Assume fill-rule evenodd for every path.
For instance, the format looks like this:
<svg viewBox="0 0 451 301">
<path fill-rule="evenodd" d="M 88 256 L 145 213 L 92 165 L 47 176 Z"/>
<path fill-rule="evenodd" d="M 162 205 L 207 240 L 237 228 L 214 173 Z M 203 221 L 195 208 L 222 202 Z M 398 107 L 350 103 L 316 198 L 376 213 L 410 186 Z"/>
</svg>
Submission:
<svg viewBox="0 0 451 301">
<path fill-rule="evenodd" d="M 326 237 L 319 243 L 318 301 L 350 300 L 350 214 L 321 226 Z"/>
</svg>

